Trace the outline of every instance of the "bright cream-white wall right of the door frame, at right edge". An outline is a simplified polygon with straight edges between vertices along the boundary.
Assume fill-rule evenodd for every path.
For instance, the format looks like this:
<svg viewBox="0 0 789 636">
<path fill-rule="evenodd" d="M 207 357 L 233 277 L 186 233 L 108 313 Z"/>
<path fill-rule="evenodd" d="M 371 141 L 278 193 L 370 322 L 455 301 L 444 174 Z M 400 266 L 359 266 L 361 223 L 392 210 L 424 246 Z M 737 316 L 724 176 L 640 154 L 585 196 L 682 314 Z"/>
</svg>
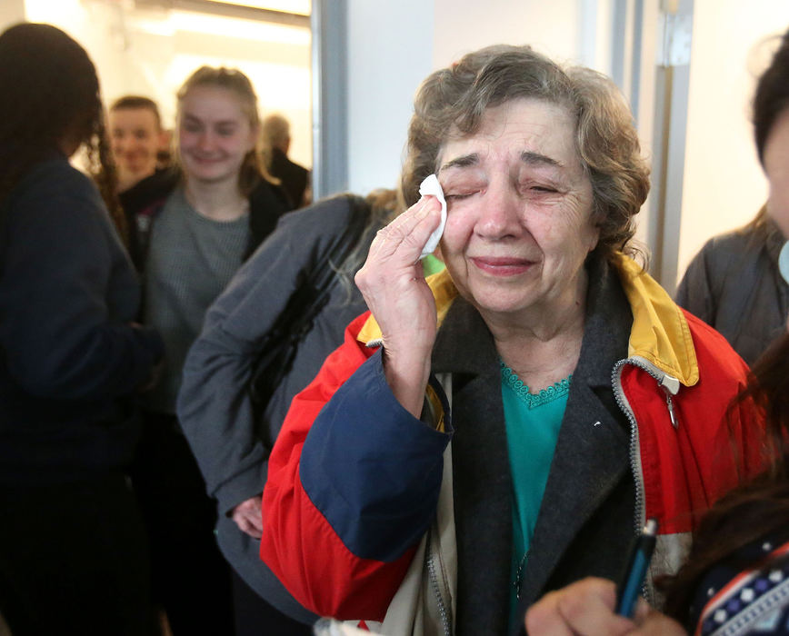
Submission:
<svg viewBox="0 0 789 636">
<path fill-rule="evenodd" d="M 694 0 L 694 31 L 677 272 L 714 234 L 745 224 L 764 204 L 750 100 L 765 36 L 789 26 L 786 0 Z"/>
</svg>

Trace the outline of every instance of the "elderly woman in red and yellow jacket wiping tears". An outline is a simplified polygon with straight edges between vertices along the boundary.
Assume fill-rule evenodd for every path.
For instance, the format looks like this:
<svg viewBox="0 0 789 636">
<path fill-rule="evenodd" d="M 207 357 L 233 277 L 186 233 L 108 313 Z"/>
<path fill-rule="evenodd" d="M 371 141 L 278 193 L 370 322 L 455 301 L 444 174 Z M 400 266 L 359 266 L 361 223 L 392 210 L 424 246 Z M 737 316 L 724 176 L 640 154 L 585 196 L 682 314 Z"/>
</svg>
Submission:
<svg viewBox="0 0 789 636">
<path fill-rule="evenodd" d="M 733 448 L 720 422 L 744 363 L 628 255 L 648 170 L 614 84 L 494 46 L 414 106 L 412 207 L 356 276 L 371 314 L 293 402 L 261 555 L 324 615 L 499 634 L 544 591 L 615 578 L 647 517 L 652 574 L 672 571 L 697 516 L 758 467 L 756 418 L 742 409 Z M 446 269 L 425 281 L 429 174 Z"/>
</svg>

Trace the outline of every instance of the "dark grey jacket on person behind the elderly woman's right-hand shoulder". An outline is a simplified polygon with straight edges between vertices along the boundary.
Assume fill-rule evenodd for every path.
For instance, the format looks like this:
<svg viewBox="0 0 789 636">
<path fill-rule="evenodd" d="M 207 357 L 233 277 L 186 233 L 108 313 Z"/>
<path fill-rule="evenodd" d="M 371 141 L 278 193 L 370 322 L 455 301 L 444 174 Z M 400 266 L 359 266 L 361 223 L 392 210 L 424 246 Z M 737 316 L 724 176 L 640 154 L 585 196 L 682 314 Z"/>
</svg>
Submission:
<svg viewBox="0 0 789 636">
<path fill-rule="evenodd" d="M 784 241 L 769 219 L 715 236 L 676 291 L 676 302 L 723 333 L 748 364 L 785 331 L 789 284 L 778 271 Z"/>
</svg>

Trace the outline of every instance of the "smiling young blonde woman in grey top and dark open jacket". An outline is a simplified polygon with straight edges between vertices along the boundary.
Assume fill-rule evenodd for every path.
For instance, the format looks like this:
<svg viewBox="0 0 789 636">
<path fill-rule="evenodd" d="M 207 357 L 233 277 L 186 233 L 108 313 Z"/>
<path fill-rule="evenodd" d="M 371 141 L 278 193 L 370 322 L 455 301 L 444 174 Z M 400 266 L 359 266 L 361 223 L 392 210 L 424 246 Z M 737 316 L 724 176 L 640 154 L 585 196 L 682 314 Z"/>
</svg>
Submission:
<svg viewBox="0 0 789 636">
<path fill-rule="evenodd" d="M 164 201 L 144 206 L 146 223 L 136 224 L 145 250 L 145 324 L 162 333 L 165 365 L 143 403 L 135 488 L 149 530 L 155 600 L 175 636 L 233 633 L 215 502 L 181 432 L 175 398 L 208 306 L 290 209 L 265 178 L 259 135 L 257 96 L 246 75 L 197 69 L 177 94 L 179 181 Z"/>
</svg>

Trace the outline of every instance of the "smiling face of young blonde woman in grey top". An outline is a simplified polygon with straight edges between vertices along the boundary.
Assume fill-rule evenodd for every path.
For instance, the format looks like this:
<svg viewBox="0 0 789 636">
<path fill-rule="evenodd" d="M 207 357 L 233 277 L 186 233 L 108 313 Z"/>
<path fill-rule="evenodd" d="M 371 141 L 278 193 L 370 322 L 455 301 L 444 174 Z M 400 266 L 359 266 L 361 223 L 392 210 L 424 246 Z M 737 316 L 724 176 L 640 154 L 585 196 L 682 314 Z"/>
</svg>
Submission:
<svg viewBox="0 0 789 636">
<path fill-rule="evenodd" d="M 257 131 L 240 98 L 219 86 L 195 86 L 178 118 L 178 149 L 187 178 L 205 183 L 238 179 Z"/>
</svg>

